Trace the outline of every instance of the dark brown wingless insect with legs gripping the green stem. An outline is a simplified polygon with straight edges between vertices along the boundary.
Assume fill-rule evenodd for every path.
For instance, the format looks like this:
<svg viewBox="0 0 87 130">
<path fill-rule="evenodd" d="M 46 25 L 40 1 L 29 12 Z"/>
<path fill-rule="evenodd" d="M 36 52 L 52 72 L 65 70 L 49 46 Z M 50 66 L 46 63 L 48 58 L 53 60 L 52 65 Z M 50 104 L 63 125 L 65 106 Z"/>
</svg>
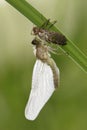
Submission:
<svg viewBox="0 0 87 130">
<path fill-rule="evenodd" d="M 56 23 L 54 21 L 50 24 L 48 19 L 41 27 L 33 27 L 32 34 L 38 35 L 38 37 L 48 43 L 54 43 L 58 45 L 66 45 L 67 39 L 64 35 L 58 32 L 49 31 L 49 29 Z"/>
</svg>

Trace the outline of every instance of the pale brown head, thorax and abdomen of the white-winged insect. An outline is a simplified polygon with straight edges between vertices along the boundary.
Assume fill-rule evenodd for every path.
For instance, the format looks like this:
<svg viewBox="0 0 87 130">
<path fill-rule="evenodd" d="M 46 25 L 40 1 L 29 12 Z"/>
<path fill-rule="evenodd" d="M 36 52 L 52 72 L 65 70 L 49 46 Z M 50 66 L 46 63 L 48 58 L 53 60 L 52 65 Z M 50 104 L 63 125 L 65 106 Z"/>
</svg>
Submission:
<svg viewBox="0 0 87 130">
<path fill-rule="evenodd" d="M 59 70 L 55 61 L 51 58 L 51 55 L 49 54 L 48 47 L 46 45 L 43 45 L 42 42 L 36 38 L 32 41 L 32 44 L 36 46 L 36 57 L 42 62 L 47 63 L 51 67 L 53 71 L 54 85 L 55 88 L 57 88 L 59 86 L 60 80 Z"/>
</svg>

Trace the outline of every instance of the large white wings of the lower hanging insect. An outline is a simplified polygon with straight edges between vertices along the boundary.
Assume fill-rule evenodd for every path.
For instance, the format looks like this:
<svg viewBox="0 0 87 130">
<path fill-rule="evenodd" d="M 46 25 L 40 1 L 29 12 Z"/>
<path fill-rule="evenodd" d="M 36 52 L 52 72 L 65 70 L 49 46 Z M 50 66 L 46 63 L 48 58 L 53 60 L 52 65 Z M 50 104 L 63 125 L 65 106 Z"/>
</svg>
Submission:
<svg viewBox="0 0 87 130">
<path fill-rule="evenodd" d="M 54 92 L 53 72 L 49 65 L 37 60 L 33 70 L 32 89 L 25 108 L 25 117 L 34 120 Z"/>
</svg>

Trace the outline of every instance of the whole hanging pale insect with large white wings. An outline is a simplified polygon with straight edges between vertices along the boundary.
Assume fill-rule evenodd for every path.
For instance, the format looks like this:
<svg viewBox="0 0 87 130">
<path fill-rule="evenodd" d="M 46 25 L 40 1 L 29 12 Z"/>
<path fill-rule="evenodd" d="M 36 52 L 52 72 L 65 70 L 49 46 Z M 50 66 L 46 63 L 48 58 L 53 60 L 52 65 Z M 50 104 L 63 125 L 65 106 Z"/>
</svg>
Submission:
<svg viewBox="0 0 87 130">
<path fill-rule="evenodd" d="M 59 86 L 59 69 L 49 54 L 48 47 L 35 38 L 32 41 L 37 58 L 33 69 L 32 88 L 25 108 L 25 117 L 35 120 L 39 112 Z"/>
</svg>

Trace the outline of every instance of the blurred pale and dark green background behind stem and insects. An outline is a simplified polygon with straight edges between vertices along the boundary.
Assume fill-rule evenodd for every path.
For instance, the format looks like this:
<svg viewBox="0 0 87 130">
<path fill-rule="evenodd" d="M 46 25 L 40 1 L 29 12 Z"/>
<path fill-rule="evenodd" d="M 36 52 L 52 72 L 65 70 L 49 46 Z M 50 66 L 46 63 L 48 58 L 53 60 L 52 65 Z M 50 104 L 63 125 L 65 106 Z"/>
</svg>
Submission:
<svg viewBox="0 0 87 130">
<path fill-rule="evenodd" d="M 27 0 L 87 55 L 86 0 Z M 35 56 L 33 24 L 0 0 L 0 130 L 86 130 L 87 74 L 66 55 L 52 55 L 60 87 L 35 121 L 24 117 Z"/>
</svg>

